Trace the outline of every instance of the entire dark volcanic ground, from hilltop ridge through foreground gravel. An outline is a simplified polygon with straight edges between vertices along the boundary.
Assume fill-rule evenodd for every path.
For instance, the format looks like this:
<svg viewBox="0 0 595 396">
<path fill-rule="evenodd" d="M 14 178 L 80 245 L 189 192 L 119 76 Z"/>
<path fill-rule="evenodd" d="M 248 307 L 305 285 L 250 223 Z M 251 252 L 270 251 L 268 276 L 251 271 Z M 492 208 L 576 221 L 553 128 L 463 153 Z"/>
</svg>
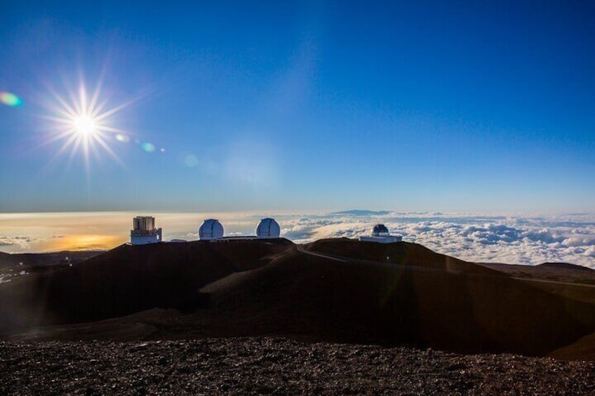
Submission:
<svg viewBox="0 0 595 396">
<path fill-rule="evenodd" d="M 595 394 L 585 268 L 346 239 L 70 264 L 0 285 L 0 394 Z"/>
</svg>

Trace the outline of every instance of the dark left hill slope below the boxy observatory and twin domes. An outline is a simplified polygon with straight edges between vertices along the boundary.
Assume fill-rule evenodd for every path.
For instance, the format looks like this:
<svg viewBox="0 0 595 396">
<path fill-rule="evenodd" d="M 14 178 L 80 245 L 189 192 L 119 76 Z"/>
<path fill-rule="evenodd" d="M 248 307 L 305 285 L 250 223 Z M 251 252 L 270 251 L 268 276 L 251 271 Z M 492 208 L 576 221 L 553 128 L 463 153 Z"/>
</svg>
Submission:
<svg viewBox="0 0 595 396">
<path fill-rule="evenodd" d="M 0 333 L 199 303 L 203 285 L 261 266 L 289 245 L 287 240 L 122 245 L 79 266 L 1 285 Z"/>
</svg>

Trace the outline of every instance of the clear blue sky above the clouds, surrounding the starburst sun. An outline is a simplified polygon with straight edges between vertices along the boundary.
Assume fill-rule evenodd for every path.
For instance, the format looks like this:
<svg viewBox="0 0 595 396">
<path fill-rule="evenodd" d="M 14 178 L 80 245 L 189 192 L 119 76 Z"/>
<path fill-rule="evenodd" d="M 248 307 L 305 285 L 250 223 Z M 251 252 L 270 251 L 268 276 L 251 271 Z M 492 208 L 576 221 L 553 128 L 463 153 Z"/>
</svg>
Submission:
<svg viewBox="0 0 595 396">
<path fill-rule="evenodd" d="M 592 3 L 255 3 L 2 3 L 0 212 L 595 212 Z"/>
</svg>

